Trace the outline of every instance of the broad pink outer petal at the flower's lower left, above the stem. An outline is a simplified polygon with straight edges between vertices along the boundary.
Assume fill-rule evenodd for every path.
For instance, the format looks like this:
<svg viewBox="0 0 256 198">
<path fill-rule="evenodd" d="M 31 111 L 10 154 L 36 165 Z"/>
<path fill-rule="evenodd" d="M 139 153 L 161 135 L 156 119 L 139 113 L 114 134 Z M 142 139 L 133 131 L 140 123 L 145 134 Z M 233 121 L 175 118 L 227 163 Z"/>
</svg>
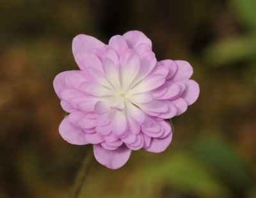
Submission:
<svg viewBox="0 0 256 198">
<path fill-rule="evenodd" d="M 84 145 L 88 144 L 85 139 L 83 130 L 73 125 L 68 116 L 63 119 L 59 127 L 60 135 L 70 144 Z"/>
</svg>

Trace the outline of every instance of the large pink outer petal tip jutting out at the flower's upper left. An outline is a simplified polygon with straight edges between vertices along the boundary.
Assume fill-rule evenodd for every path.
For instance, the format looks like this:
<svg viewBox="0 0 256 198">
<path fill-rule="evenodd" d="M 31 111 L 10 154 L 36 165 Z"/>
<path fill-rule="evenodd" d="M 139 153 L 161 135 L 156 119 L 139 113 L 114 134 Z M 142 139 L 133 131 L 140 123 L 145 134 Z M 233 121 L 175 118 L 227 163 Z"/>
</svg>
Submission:
<svg viewBox="0 0 256 198">
<path fill-rule="evenodd" d="M 77 35 L 72 42 L 72 51 L 74 56 L 79 52 L 84 52 L 93 49 L 102 49 L 105 46 L 104 43 L 97 40 L 93 36 L 88 36 L 85 34 Z"/>
</svg>

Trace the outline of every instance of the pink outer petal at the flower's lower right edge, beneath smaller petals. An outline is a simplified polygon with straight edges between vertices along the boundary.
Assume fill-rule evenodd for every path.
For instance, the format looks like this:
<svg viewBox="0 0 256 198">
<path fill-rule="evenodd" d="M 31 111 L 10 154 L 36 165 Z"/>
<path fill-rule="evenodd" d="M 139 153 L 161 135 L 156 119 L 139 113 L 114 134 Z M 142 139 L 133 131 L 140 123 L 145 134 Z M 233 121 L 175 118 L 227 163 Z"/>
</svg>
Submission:
<svg viewBox="0 0 256 198">
<path fill-rule="evenodd" d="M 152 138 L 150 142 L 150 146 L 145 148 L 146 151 L 150 151 L 153 153 L 160 153 L 163 152 L 172 141 L 172 133 L 169 133 L 164 138 Z"/>
</svg>

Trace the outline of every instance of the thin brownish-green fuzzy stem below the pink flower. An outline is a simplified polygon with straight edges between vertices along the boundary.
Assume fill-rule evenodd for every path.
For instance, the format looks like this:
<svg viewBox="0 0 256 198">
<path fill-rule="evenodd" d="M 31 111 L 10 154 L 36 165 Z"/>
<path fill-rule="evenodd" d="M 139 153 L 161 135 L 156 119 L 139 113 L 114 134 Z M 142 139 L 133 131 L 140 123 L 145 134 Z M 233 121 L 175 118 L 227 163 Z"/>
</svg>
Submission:
<svg viewBox="0 0 256 198">
<path fill-rule="evenodd" d="M 77 172 L 76 179 L 74 181 L 74 185 L 72 186 L 68 198 L 77 198 L 79 197 L 81 188 L 83 187 L 84 182 L 88 178 L 88 174 L 90 173 L 90 170 L 92 169 L 93 164 L 93 151 L 92 151 L 92 145 L 90 145 L 90 149 L 88 149 L 86 156 L 83 160 L 83 165 L 81 169 Z"/>
</svg>

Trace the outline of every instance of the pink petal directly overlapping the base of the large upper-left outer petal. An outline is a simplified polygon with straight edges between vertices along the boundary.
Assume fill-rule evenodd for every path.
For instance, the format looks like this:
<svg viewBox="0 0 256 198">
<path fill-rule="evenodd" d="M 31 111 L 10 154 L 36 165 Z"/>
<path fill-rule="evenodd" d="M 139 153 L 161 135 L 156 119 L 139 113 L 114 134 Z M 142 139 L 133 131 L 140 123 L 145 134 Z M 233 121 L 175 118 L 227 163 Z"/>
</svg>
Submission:
<svg viewBox="0 0 256 198">
<path fill-rule="evenodd" d="M 92 67 L 99 71 L 102 71 L 102 63 L 93 52 L 83 52 L 75 56 L 75 60 L 80 70 L 85 71 L 86 68 Z"/>
</svg>

